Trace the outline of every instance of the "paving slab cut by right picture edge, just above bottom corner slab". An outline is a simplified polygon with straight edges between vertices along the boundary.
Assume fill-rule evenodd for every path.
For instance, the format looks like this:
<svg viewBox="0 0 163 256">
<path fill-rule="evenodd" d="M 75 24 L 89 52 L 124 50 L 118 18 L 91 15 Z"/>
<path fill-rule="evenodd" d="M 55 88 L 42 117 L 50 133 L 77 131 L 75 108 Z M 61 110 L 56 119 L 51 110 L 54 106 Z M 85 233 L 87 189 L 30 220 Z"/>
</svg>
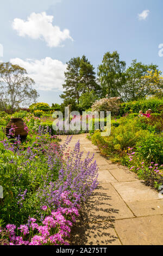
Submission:
<svg viewBox="0 0 163 256">
<path fill-rule="evenodd" d="M 137 217 L 163 214 L 163 199 L 136 201 L 127 204 Z"/>
</svg>

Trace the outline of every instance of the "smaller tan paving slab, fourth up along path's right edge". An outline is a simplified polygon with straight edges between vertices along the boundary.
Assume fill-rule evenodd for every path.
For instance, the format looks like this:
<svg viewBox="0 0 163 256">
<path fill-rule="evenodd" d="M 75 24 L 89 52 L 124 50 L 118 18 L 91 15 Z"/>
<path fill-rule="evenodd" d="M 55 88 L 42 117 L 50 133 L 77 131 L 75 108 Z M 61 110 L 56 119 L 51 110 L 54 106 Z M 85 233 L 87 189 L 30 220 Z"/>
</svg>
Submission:
<svg viewBox="0 0 163 256">
<path fill-rule="evenodd" d="M 137 180 L 137 175 L 125 169 L 110 169 L 109 172 L 120 182 L 122 181 L 135 181 Z"/>
</svg>

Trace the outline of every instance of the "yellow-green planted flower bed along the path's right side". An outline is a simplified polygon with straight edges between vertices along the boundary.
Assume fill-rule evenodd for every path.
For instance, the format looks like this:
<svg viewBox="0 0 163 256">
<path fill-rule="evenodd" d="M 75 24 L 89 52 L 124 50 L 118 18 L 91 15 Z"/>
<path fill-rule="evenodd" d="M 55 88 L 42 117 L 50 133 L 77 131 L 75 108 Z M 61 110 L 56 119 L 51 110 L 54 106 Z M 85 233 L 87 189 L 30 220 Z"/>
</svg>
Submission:
<svg viewBox="0 0 163 256">
<path fill-rule="evenodd" d="M 89 139 L 112 162 L 129 167 L 147 185 L 158 189 L 163 184 L 162 114 L 151 118 L 128 114 L 111 120 L 111 135 L 90 131 Z"/>
</svg>

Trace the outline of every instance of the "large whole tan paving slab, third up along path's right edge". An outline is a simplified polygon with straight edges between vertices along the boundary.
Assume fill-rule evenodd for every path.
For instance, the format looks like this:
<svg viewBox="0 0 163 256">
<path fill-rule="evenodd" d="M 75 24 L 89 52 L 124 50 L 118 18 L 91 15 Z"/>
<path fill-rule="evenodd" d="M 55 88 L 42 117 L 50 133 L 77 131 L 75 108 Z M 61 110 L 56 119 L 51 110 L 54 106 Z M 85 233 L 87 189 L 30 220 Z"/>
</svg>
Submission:
<svg viewBox="0 0 163 256">
<path fill-rule="evenodd" d="M 124 202 L 146 201 L 159 199 L 159 194 L 151 187 L 147 187 L 140 180 L 112 183 Z"/>
</svg>

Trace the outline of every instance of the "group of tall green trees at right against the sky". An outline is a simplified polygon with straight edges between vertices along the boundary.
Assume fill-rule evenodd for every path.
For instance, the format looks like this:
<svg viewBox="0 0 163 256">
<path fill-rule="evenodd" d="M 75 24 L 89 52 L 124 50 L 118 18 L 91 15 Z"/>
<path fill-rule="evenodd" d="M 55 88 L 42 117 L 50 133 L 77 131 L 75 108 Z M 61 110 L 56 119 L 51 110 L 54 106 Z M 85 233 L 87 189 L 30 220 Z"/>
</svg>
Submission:
<svg viewBox="0 0 163 256">
<path fill-rule="evenodd" d="M 145 99 L 147 96 L 163 96 L 163 82 L 158 65 L 145 65 L 133 60 L 129 68 L 120 60 L 117 51 L 104 54 L 102 63 L 95 68 L 89 60 L 71 58 L 67 62 L 64 92 L 60 97 L 64 100 L 61 108 L 69 104 L 72 109 L 88 109 L 92 103 L 105 97 L 120 96 L 122 101 Z"/>
</svg>

